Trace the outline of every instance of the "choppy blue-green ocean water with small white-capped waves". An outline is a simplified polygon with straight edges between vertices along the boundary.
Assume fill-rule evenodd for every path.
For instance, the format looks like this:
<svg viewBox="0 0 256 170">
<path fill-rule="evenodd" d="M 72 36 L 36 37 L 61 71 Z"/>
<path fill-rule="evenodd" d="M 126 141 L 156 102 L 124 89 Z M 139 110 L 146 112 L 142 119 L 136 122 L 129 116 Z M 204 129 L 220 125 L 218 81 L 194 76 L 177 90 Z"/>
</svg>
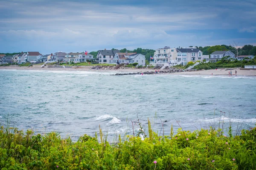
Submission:
<svg viewBox="0 0 256 170">
<path fill-rule="evenodd" d="M 136 135 L 138 119 L 145 132 L 149 119 L 166 135 L 172 125 L 196 130 L 224 121 L 235 132 L 256 124 L 256 77 L 115 73 L 0 70 L 0 124 L 73 140 L 95 136 L 100 125 L 110 141 Z"/>
</svg>

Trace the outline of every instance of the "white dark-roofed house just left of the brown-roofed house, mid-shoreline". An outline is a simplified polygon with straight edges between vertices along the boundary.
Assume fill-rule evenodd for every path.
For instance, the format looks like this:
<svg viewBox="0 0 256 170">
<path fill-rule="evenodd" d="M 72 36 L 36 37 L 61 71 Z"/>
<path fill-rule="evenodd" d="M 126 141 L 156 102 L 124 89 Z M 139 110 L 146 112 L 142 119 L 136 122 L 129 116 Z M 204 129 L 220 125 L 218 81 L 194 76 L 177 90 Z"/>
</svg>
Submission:
<svg viewBox="0 0 256 170">
<path fill-rule="evenodd" d="M 119 50 L 99 50 L 97 54 L 97 59 L 99 59 L 99 64 L 109 64 L 110 60 L 113 60 L 116 53 L 120 53 Z"/>
</svg>

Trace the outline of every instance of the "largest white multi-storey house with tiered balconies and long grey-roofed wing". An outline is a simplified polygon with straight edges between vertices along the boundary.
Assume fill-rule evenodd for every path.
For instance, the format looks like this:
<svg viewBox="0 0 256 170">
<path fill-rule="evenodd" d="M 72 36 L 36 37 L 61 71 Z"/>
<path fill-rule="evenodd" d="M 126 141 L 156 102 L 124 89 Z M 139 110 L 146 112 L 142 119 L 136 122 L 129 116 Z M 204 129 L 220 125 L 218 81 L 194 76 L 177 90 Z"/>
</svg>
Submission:
<svg viewBox="0 0 256 170">
<path fill-rule="evenodd" d="M 203 55 L 202 51 L 194 47 L 170 48 L 167 46 L 158 48 L 152 57 L 150 65 L 186 65 L 189 61 L 209 59 L 209 55 Z"/>
</svg>

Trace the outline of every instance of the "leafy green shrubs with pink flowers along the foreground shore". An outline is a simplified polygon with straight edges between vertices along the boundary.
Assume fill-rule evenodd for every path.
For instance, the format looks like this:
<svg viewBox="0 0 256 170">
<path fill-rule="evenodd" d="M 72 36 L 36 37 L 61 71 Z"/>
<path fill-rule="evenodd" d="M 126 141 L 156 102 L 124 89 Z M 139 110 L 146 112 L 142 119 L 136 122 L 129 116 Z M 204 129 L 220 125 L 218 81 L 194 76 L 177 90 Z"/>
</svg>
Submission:
<svg viewBox="0 0 256 170">
<path fill-rule="evenodd" d="M 221 123 L 220 123 L 221 124 Z M 99 137 L 97 136 L 99 134 Z M 95 137 L 77 142 L 59 133 L 35 135 L 13 127 L 0 127 L 2 170 L 254 170 L 256 127 L 241 135 L 224 135 L 221 129 L 183 131 L 158 135 L 148 121 L 148 134 L 125 136 L 112 144 L 99 128 Z M 144 140 L 139 136 L 142 135 Z M 99 141 L 99 142 L 98 142 Z"/>
</svg>

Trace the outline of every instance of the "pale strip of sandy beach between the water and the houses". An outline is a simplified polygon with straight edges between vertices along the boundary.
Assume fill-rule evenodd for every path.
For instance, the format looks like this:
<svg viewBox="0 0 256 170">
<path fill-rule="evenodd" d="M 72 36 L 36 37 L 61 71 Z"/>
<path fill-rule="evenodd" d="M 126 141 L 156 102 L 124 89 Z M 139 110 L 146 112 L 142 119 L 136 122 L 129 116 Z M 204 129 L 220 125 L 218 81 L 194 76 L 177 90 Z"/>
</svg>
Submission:
<svg viewBox="0 0 256 170">
<path fill-rule="evenodd" d="M 154 71 L 154 69 L 148 68 L 127 68 L 127 69 L 117 69 L 117 70 L 94 70 L 91 69 L 92 66 L 86 66 L 83 68 L 33 68 L 33 67 L 14 67 L 14 66 L 0 66 L 0 70 L 40 70 L 40 71 L 97 71 L 97 72 L 145 72 L 145 71 Z M 236 74 L 237 71 L 237 74 Z M 179 73 L 168 73 L 168 74 L 182 74 L 182 75 L 229 75 L 229 70 L 225 69 L 217 69 L 217 70 L 201 70 L 201 71 L 186 71 L 186 72 L 179 72 Z M 256 70 L 240 70 L 240 69 L 233 69 L 233 75 L 238 76 L 256 76 Z"/>
</svg>

